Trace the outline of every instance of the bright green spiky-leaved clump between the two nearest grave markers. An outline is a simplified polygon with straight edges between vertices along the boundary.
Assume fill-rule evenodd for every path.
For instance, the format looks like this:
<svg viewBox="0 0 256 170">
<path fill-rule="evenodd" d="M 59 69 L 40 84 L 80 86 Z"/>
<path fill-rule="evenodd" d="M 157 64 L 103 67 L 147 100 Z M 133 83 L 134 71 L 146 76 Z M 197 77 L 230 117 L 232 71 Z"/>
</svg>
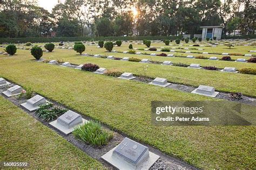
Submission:
<svg viewBox="0 0 256 170">
<path fill-rule="evenodd" d="M 77 126 L 73 131 L 73 135 L 92 146 L 106 145 L 113 137 L 111 132 L 102 129 L 100 123 L 96 121 L 90 121 L 84 125 Z"/>
</svg>

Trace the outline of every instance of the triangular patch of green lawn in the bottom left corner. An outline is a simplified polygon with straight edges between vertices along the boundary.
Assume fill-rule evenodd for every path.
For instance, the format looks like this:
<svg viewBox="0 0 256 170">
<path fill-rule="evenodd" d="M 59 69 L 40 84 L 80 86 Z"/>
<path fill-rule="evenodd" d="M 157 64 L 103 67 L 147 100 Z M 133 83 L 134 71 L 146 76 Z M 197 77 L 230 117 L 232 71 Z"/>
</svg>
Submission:
<svg viewBox="0 0 256 170">
<path fill-rule="evenodd" d="M 31 169 L 103 168 L 2 96 L 0 110 L 0 162 L 28 162 Z"/>
</svg>

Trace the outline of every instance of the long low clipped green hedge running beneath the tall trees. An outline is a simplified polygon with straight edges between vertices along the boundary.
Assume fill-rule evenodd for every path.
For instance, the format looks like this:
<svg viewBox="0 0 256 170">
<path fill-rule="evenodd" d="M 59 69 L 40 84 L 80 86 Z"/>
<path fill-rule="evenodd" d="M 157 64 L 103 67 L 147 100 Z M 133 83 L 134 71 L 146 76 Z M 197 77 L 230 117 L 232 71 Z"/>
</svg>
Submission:
<svg viewBox="0 0 256 170">
<path fill-rule="evenodd" d="M 114 40 L 161 40 L 177 39 L 181 36 L 137 36 L 137 37 L 52 37 L 52 38 L 1 38 L 0 43 L 60 42 L 60 41 L 114 41 Z"/>
</svg>

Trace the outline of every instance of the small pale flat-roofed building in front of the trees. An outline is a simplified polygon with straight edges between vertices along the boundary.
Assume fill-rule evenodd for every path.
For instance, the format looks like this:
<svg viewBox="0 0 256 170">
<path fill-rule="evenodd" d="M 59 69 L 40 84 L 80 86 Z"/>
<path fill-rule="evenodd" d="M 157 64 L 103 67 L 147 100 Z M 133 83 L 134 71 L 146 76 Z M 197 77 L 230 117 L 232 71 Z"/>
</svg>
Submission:
<svg viewBox="0 0 256 170">
<path fill-rule="evenodd" d="M 223 26 L 200 26 L 203 29 L 202 39 L 217 37 L 216 40 L 221 39 L 221 32 Z"/>
</svg>

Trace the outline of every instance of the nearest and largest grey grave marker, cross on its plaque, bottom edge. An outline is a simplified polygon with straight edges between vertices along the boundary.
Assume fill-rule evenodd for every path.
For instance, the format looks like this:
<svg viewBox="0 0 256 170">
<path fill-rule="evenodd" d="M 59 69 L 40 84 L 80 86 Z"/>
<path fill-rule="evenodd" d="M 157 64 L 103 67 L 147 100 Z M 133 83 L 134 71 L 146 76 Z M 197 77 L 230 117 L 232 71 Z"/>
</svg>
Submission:
<svg viewBox="0 0 256 170">
<path fill-rule="evenodd" d="M 125 138 L 102 158 L 118 169 L 149 169 L 159 159 L 159 155 L 150 152 L 148 147 Z"/>
</svg>

